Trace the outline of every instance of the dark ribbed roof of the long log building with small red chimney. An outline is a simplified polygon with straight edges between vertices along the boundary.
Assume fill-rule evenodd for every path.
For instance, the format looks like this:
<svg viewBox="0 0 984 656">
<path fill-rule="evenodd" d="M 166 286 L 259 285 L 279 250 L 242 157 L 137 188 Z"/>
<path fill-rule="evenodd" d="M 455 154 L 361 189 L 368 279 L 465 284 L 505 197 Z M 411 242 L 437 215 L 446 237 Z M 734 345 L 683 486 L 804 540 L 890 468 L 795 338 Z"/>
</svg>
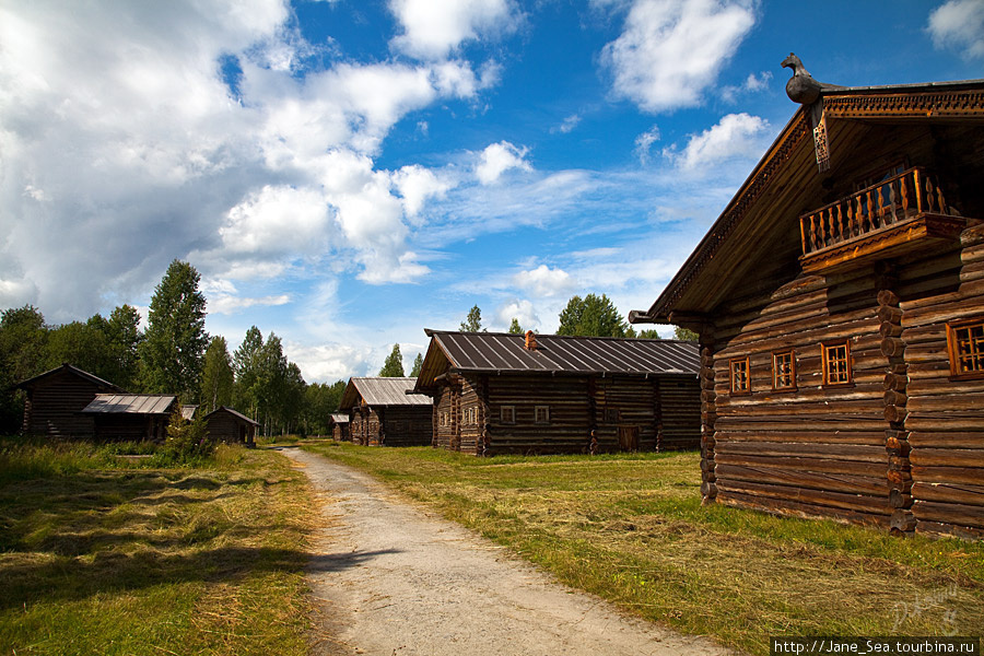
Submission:
<svg viewBox="0 0 984 656">
<path fill-rule="evenodd" d="M 448 367 L 492 374 L 696 375 L 693 342 L 611 337 L 537 335 L 536 350 L 523 335 L 426 330 L 431 344 L 415 389 L 429 389 Z"/>
</svg>

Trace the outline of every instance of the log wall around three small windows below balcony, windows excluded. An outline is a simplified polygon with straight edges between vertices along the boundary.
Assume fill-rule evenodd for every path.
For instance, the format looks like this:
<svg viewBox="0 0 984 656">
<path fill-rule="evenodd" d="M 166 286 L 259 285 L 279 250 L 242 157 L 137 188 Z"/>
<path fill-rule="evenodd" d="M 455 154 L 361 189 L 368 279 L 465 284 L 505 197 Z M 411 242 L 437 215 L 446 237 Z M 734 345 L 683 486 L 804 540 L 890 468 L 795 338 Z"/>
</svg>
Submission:
<svg viewBox="0 0 984 656">
<path fill-rule="evenodd" d="M 797 279 L 734 303 L 714 327 L 714 436 L 705 496 L 734 505 L 888 525 L 886 359 L 871 270 Z M 848 341 L 854 382 L 824 388 L 821 343 Z M 774 391 L 772 352 L 793 348 L 797 388 Z M 729 360 L 749 358 L 751 391 L 731 395 Z M 708 469 L 711 470 L 708 472 Z M 716 480 L 715 480 L 716 479 Z"/>
</svg>

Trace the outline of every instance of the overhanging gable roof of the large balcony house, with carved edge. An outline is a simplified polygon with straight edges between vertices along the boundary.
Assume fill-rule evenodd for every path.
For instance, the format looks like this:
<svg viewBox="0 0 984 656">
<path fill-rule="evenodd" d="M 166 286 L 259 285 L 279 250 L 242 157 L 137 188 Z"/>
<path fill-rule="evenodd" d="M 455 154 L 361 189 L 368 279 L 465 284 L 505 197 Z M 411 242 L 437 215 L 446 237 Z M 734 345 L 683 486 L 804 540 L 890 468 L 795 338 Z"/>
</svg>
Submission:
<svg viewBox="0 0 984 656">
<path fill-rule="evenodd" d="M 733 297 L 762 255 L 787 237 L 780 234 L 784 222 L 824 204 L 817 200 L 824 197 L 824 185 L 836 175 L 839 164 L 856 156 L 854 147 L 867 127 L 984 125 L 984 80 L 824 85 L 820 96 L 831 171 L 818 172 L 810 109 L 800 106 L 659 297 L 647 311 L 630 312 L 630 323 L 693 326 L 701 315 Z"/>
</svg>

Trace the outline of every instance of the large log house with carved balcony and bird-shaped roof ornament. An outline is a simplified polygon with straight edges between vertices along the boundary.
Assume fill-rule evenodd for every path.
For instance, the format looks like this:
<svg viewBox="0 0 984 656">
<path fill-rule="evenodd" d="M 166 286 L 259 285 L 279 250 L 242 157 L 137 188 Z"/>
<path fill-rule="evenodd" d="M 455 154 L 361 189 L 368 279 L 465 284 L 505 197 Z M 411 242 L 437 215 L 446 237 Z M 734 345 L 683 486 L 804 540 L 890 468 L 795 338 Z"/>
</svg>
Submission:
<svg viewBox="0 0 984 656">
<path fill-rule="evenodd" d="M 630 320 L 700 333 L 705 502 L 984 536 L 984 81 L 796 65 L 805 104 Z"/>
</svg>

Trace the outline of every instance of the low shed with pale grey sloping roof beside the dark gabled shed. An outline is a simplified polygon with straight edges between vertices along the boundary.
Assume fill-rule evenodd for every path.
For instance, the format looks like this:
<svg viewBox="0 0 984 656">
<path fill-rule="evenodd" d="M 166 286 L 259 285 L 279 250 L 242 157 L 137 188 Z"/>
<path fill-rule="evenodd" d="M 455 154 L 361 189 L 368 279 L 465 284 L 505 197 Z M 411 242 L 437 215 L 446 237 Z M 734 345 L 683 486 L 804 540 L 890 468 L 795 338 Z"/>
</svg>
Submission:
<svg viewBox="0 0 984 656">
<path fill-rule="evenodd" d="M 97 440 L 163 442 L 178 407 L 171 394 L 97 394 L 82 414 L 92 418 Z M 183 417 L 190 420 L 197 408 L 181 408 Z"/>
</svg>

